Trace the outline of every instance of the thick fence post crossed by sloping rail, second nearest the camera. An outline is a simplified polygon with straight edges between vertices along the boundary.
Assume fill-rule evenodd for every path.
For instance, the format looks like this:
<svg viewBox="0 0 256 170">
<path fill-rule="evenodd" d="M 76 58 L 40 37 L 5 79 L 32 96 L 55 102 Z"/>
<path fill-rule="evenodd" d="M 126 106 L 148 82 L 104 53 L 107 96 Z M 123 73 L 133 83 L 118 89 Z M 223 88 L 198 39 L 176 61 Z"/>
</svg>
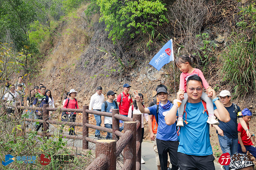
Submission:
<svg viewBox="0 0 256 170">
<path fill-rule="evenodd" d="M 133 163 L 131 170 L 136 170 L 136 122 L 124 122 L 124 132 L 126 131 L 131 131 L 132 137 L 124 149 L 123 168 L 126 169 L 126 166 L 130 167 L 130 165 L 125 163 L 128 160 L 128 162 Z"/>
</svg>

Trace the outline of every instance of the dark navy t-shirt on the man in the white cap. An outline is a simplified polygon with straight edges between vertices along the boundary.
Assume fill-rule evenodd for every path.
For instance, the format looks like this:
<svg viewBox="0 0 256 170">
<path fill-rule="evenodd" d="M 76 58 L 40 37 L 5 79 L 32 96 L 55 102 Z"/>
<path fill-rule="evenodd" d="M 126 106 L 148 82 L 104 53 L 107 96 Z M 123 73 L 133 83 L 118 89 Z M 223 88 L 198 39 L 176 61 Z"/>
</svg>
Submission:
<svg viewBox="0 0 256 170">
<path fill-rule="evenodd" d="M 217 109 L 216 105 L 213 103 L 214 110 Z M 224 106 L 225 107 L 225 106 Z M 230 107 L 225 107 L 229 113 L 230 121 L 229 122 L 222 122 L 219 120 L 219 128 L 223 130 L 223 134 L 231 139 L 237 139 L 238 138 L 238 131 L 237 131 L 237 118 L 243 117 L 241 109 L 239 106 L 238 108 L 238 114 L 235 111 L 234 104 Z M 216 133 L 218 131 L 216 130 Z"/>
</svg>

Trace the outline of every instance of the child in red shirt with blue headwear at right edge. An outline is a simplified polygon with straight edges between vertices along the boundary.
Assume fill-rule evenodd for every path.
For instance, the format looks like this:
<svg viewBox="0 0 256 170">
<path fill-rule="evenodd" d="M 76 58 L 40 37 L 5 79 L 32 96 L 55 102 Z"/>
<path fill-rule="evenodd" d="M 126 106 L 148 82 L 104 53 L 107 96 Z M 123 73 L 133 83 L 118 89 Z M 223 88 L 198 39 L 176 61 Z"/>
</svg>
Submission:
<svg viewBox="0 0 256 170">
<path fill-rule="evenodd" d="M 249 123 L 251 121 L 252 118 L 252 113 L 249 111 L 249 109 L 245 108 L 242 111 L 243 114 L 243 119 L 247 124 L 248 127 L 248 131 L 249 130 Z M 238 153 L 247 153 L 247 151 L 249 151 L 255 158 L 256 158 L 256 148 L 253 146 L 253 142 L 255 142 L 255 136 L 254 134 L 252 135 L 253 137 L 253 142 L 252 140 L 248 138 L 246 131 L 243 129 L 243 127 L 241 126 L 240 123 L 238 123 L 237 126 L 237 130 L 238 130 L 238 149 L 237 152 Z"/>
</svg>

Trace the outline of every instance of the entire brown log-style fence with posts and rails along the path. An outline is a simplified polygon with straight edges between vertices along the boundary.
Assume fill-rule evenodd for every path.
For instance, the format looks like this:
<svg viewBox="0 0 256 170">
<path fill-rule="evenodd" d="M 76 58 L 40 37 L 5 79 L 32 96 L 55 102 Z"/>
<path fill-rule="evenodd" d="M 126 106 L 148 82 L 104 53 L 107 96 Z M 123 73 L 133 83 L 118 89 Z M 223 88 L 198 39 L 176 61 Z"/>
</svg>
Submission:
<svg viewBox="0 0 256 170">
<path fill-rule="evenodd" d="M 116 170 L 116 158 L 124 150 L 124 165 L 123 170 L 140 170 L 141 169 L 141 114 L 133 114 L 133 118 L 128 118 L 119 115 L 119 109 L 113 109 L 112 113 L 98 112 L 89 110 L 88 105 L 84 105 L 82 109 L 66 109 L 66 108 L 51 108 L 48 104 L 43 107 L 24 107 L 16 105 L 19 109 L 30 109 L 43 111 L 43 120 L 27 119 L 26 121 L 43 122 L 42 136 L 53 136 L 48 133 L 48 123 L 60 125 L 75 125 L 83 127 L 83 134 L 77 136 L 62 135 L 61 137 L 69 139 L 83 140 L 83 149 L 88 149 L 88 142 L 96 143 L 96 159 L 86 168 L 86 170 Z M 83 113 L 83 121 L 81 122 L 60 122 L 49 120 L 49 111 L 61 112 L 76 112 Z M 89 114 L 112 117 L 112 129 L 103 128 L 89 124 Z M 124 133 L 119 131 L 119 120 L 124 121 Z M 97 129 L 103 132 L 109 132 L 113 135 L 113 140 L 93 140 L 89 138 L 89 129 Z"/>
</svg>

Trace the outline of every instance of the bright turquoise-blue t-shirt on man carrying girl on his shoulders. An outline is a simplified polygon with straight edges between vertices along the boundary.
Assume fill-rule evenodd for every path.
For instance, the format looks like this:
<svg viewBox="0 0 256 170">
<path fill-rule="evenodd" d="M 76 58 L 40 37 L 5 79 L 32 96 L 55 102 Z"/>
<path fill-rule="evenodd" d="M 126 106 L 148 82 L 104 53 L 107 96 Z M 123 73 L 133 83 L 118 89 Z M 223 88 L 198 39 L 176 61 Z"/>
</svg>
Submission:
<svg viewBox="0 0 256 170">
<path fill-rule="evenodd" d="M 208 115 L 204 111 L 202 102 L 186 104 L 187 122 L 180 127 L 180 145 L 178 152 L 187 155 L 206 156 L 212 154 L 210 143 L 210 126 Z M 178 113 L 177 113 L 178 114 Z M 185 115 L 183 119 L 185 120 Z"/>
</svg>

